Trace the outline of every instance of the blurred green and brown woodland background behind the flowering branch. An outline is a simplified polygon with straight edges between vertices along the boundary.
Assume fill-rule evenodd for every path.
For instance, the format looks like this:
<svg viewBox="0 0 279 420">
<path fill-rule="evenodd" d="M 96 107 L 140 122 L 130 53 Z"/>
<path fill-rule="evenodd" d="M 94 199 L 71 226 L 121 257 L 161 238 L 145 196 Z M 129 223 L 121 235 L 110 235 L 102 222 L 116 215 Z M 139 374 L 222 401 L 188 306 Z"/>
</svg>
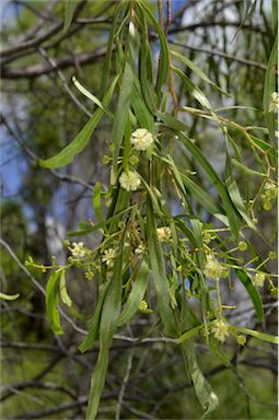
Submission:
<svg viewBox="0 0 279 420">
<path fill-rule="evenodd" d="M 94 219 L 92 190 L 108 170 L 103 163 L 112 143 L 109 121 L 104 118 L 86 148 L 61 170 L 38 166 L 38 159 L 53 156 L 68 144 L 93 112 L 71 82 L 72 75 L 98 96 L 102 62 L 117 1 L 80 1 L 69 32 L 63 35 L 61 0 L 10 0 L 1 3 L 1 290 L 20 293 L 16 301 L 1 302 L 2 352 L 1 419 L 79 419 L 84 417 L 88 388 L 96 350 L 81 355 L 79 331 L 65 324 L 66 335 L 55 337 L 45 316 L 43 287 L 46 275 L 26 271 L 24 260 L 32 255 L 47 265 L 51 256 L 65 261 L 62 241 L 80 220 Z M 271 0 L 179 0 L 172 1 L 170 43 L 186 54 L 212 81 L 232 95 L 226 98 L 195 79 L 214 107 L 233 105 L 224 116 L 242 125 L 265 126 L 263 90 L 268 57 L 275 42 Z M 152 3 L 154 13 L 156 2 Z M 153 52 L 159 47 L 155 37 Z M 115 72 L 114 57 L 113 71 Z M 194 106 L 183 90 L 179 103 Z M 185 117 L 191 137 L 199 139 L 204 153 L 221 170 L 224 149 L 213 125 Z M 254 161 L 239 133 L 237 143 L 246 165 Z M 182 165 L 184 164 L 182 156 Z M 195 161 L 188 162 L 199 175 Z M 200 185 L 206 180 L 200 176 Z M 254 184 L 253 184 L 254 183 Z M 240 173 L 239 184 L 246 182 Z M 170 200 L 172 189 L 170 188 Z M 209 190 L 210 192 L 210 190 Z M 175 208 L 175 203 L 174 203 Z M 255 244 L 263 258 L 276 241 L 276 210 L 255 214 L 267 242 Z M 210 218 L 208 217 L 208 222 Z M 253 240 L 253 238 L 252 238 Z M 90 241 L 90 240 L 89 240 Z M 93 240 L 91 240 L 93 241 Z M 90 246 L 90 242 L 88 244 Z M 269 262 L 275 270 L 276 264 Z M 94 306 L 94 284 L 72 272 L 69 291 L 81 312 Z M 245 290 L 235 287 L 237 311 L 233 320 L 256 326 Z M 277 331 L 277 302 L 263 291 L 265 330 Z M 235 320 L 236 319 L 236 320 Z M 84 323 L 79 323 L 83 325 Z M 154 338 L 135 343 L 131 336 L 148 334 L 150 315 L 139 315 L 129 330 L 114 340 L 100 418 L 112 419 L 119 411 L 119 393 L 127 377 L 119 418 L 198 419 L 201 409 L 185 376 L 179 349 Z M 214 419 L 277 418 L 277 349 L 256 339 L 244 348 L 225 345 L 232 368 L 220 364 L 202 345 L 201 368 L 220 397 Z"/>
</svg>

